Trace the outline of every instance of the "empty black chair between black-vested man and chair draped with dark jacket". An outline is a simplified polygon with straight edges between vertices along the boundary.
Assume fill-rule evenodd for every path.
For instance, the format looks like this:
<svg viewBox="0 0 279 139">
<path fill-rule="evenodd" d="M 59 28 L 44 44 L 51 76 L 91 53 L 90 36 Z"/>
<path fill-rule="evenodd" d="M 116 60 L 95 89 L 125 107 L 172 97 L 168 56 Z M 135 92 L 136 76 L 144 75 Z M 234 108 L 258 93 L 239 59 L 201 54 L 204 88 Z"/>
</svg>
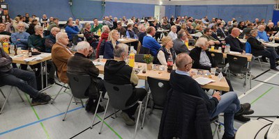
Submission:
<svg viewBox="0 0 279 139">
<path fill-rule="evenodd" d="M 151 111 L 149 114 L 151 114 L 151 112 L 154 108 L 154 105 L 161 106 L 161 107 L 164 106 L 165 98 L 167 97 L 167 92 L 171 88 L 169 85 L 169 81 L 155 79 L 150 76 L 147 77 L 147 82 L 149 84 L 149 88 L 150 88 L 151 92 L 148 92 L 147 97 L 146 97 L 144 117 L 142 119 L 142 129 L 144 126 L 144 118 L 145 118 L 146 108 L 147 108 L 150 94 L 152 96 L 153 104 L 151 105 Z"/>
</svg>

